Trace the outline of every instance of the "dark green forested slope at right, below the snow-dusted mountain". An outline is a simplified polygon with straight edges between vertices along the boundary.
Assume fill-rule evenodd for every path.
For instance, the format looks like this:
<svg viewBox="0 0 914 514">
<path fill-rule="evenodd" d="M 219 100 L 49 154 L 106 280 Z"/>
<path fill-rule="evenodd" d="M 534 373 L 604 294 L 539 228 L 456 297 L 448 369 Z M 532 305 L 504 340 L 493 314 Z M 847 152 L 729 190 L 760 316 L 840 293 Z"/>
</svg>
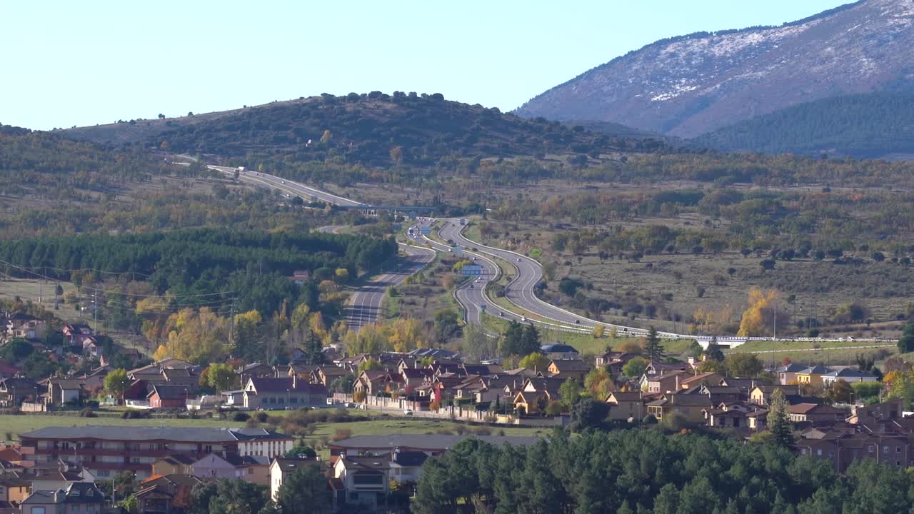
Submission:
<svg viewBox="0 0 914 514">
<path fill-rule="evenodd" d="M 914 155 L 914 92 L 826 98 L 756 116 L 690 143 L 727 151 L 902 158 Z"/>
</svg>

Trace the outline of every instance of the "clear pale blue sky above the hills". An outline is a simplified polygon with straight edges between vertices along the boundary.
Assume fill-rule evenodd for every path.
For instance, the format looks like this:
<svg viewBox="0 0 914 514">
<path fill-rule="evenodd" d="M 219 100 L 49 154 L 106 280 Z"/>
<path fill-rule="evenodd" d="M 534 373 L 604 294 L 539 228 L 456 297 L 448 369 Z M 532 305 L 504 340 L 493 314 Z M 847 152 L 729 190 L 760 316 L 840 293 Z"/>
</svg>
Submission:
<svg viewBox="0 0 914 514">
<path fill-rule="evenodd" d="M 48 130 L 322 92 L 509 111 L 657 39 L 850 0 L 0 0 L 0 123 Z"/>
</svg>

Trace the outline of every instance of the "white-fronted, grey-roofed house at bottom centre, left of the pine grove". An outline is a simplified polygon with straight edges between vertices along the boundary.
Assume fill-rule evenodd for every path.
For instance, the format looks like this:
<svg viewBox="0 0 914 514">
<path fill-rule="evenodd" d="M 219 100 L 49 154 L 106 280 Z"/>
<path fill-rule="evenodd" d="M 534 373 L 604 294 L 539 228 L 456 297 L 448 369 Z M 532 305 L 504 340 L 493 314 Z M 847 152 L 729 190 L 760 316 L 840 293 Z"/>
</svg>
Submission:
<svg viewBox="0 0 914 514">
<path fill-rule="evenodd" d="M 339 455 L 331 471 L 335 509 L 376 511 L 382 508 L 389 490 L 390 457 Z"/>
</svg>

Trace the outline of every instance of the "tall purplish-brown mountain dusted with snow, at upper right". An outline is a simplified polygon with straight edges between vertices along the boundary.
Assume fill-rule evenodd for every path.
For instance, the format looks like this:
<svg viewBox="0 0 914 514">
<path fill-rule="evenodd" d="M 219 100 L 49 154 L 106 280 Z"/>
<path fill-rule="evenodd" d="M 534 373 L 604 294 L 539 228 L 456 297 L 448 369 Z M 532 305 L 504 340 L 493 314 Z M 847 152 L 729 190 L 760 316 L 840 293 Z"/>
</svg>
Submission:
<svg viewBox="0 0 914 514">
<path fill-rule="evenodd" d="M 516 110 L 679 137 L 804 102 L 914 89 L 914 0 L 863 0 L 781 27 L 657 41 Z"/>
</svg>

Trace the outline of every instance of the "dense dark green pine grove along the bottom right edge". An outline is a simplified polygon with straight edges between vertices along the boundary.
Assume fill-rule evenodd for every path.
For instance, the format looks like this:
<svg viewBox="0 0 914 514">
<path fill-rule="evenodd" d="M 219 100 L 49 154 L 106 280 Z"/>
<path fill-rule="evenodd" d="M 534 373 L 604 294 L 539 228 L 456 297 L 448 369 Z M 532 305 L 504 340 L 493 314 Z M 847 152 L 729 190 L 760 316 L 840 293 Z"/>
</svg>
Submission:
<svg viewBox="0 0 914 514">
<path fill-rule="evenodd" d="M 430 459 L 412 511 L 813 514 L 905 512 L 914 478 L 856 461 L 845 476 L 780 444 L 625 430 L 557 432 L 526 447 L 476 440 Z"/>
</svg>

